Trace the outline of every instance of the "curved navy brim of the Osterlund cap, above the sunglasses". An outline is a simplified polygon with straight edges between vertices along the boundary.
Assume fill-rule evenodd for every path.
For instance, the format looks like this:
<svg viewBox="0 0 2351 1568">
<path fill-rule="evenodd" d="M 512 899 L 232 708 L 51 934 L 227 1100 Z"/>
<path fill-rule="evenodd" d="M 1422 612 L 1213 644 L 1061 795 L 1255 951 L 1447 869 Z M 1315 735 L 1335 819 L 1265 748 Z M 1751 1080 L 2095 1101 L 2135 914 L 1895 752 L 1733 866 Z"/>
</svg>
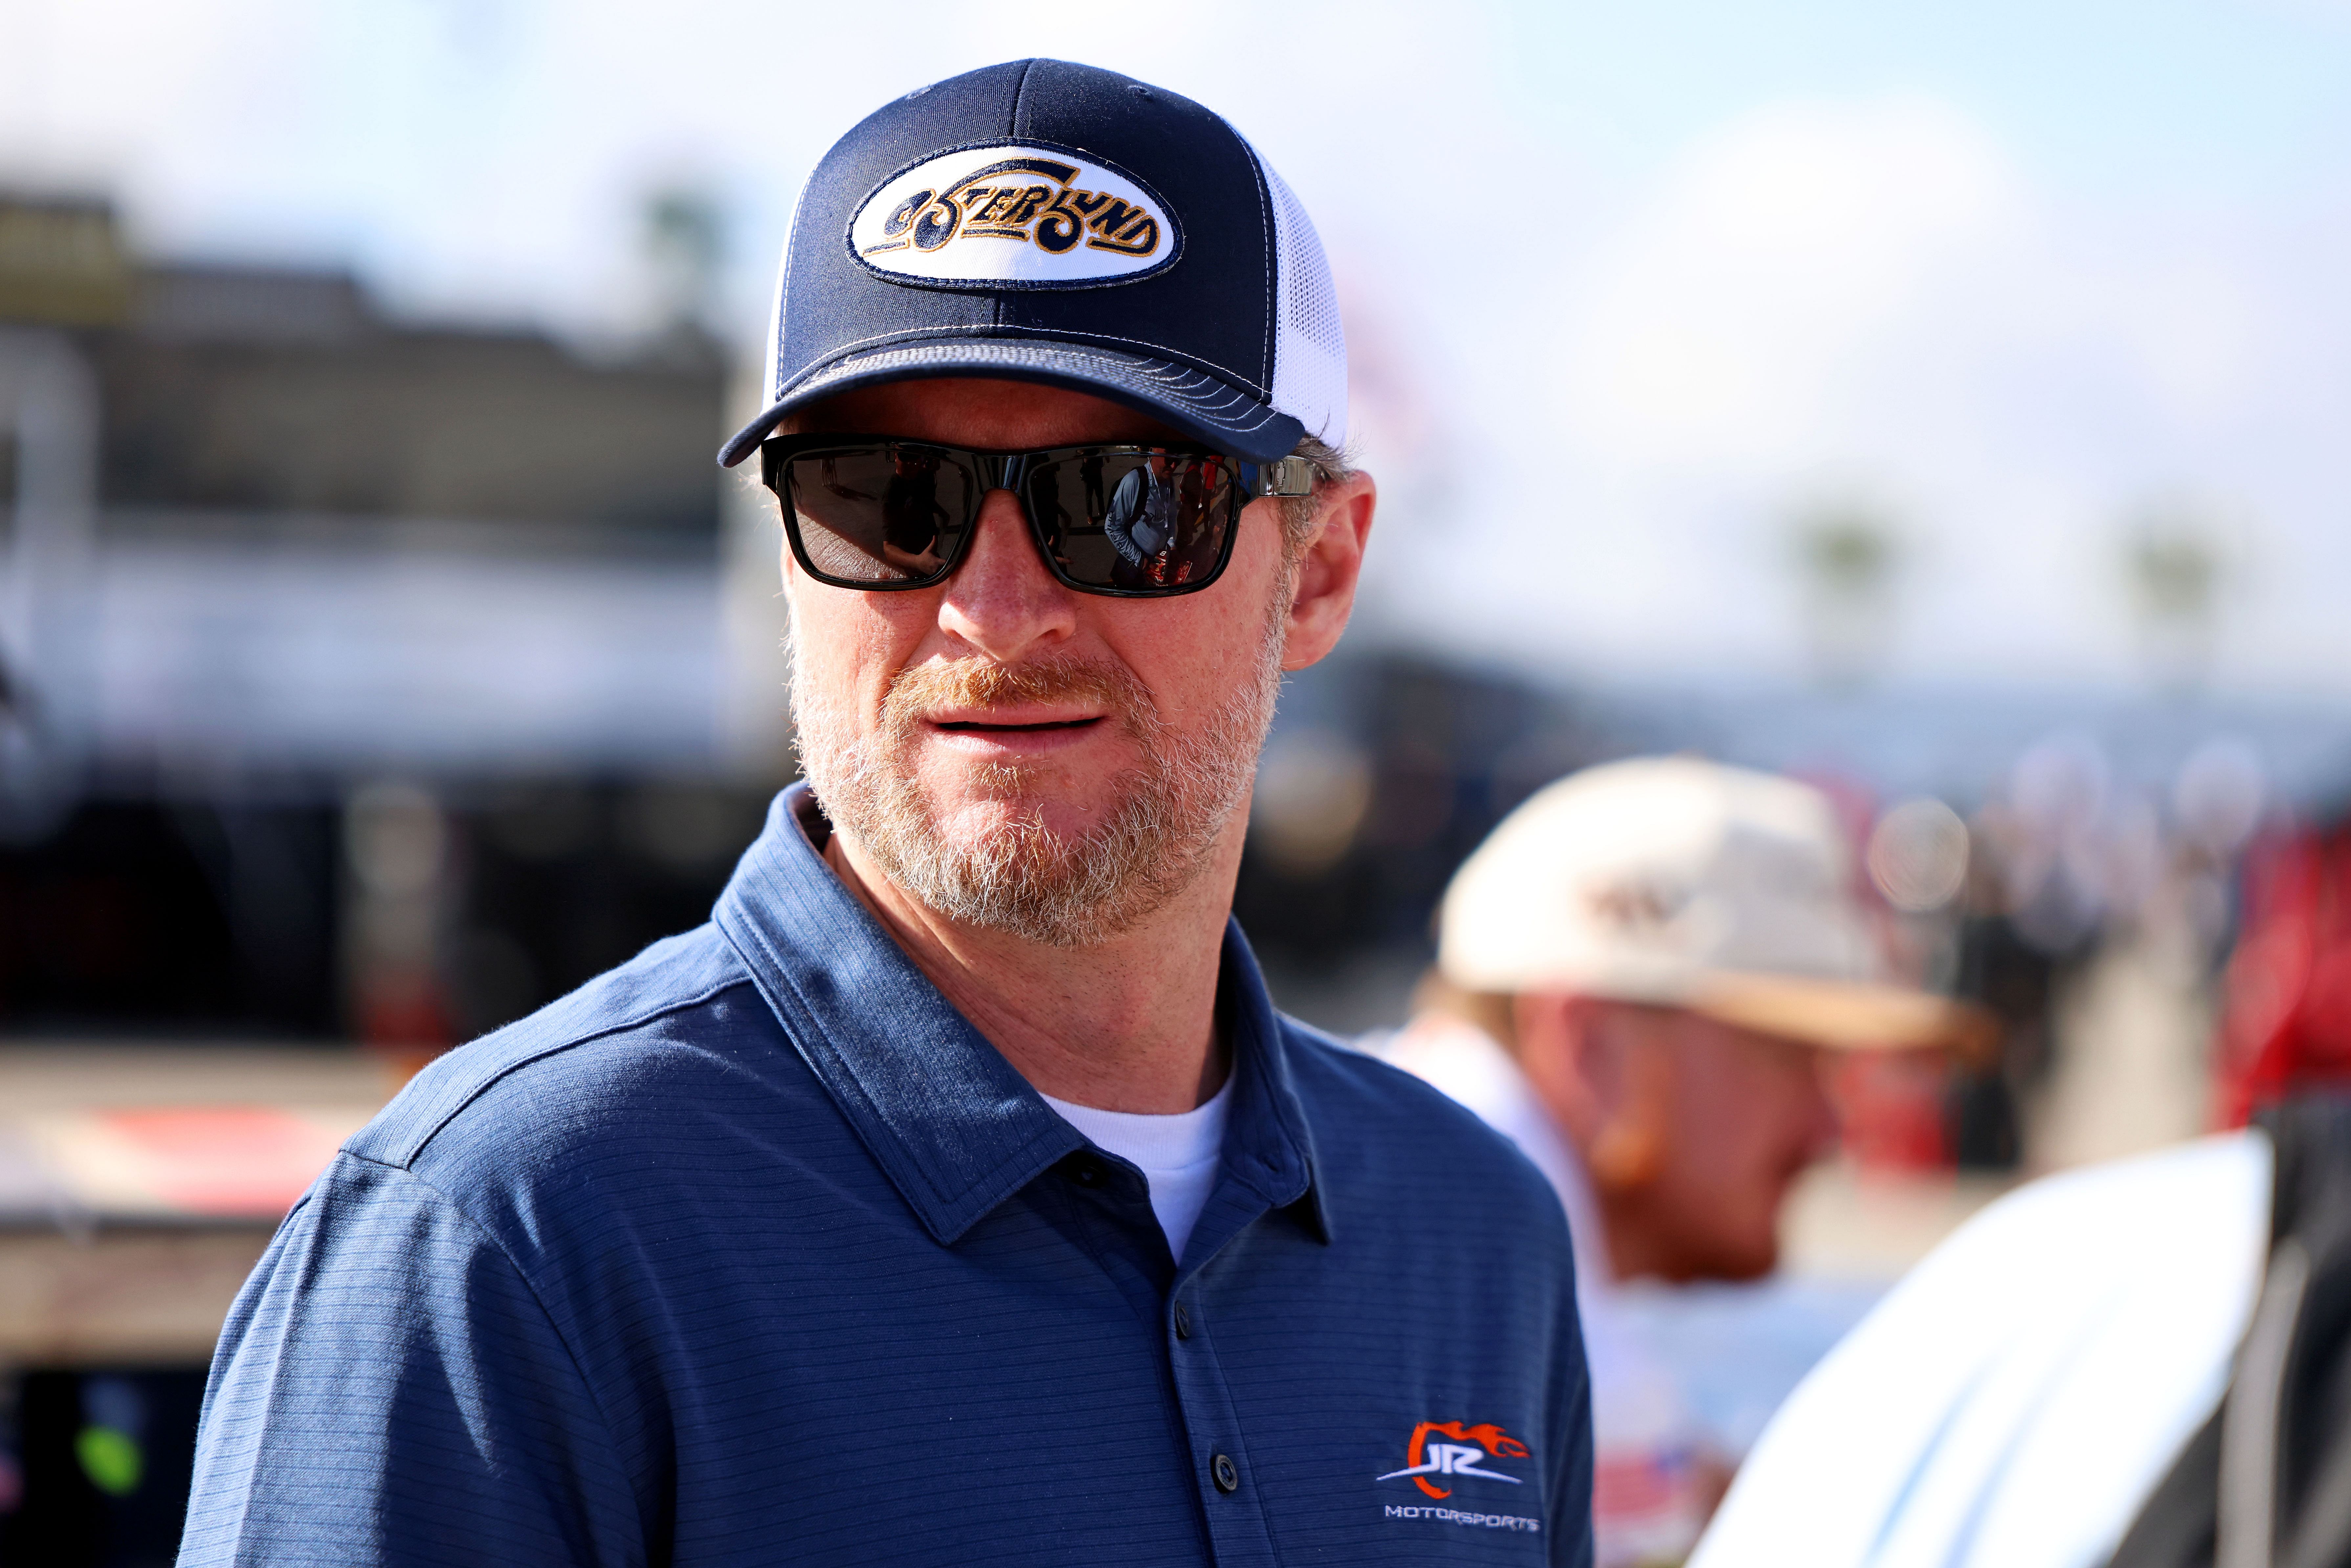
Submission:
<svg viewBox="0 0 2351 1568">
<path fill-rule="evenodd" d="M 926 376 L 1041 381 L 1093 393 L 1253 463 L 1288 456 L 1305 435 L 1305 425 L 1260 397 L 1173 360 L 1039 339 L 950 339 L 849 355 L 802 378 L 719 449 L 719 465 L 734 468 L 750 456 L 792 409 L 858 386 Z"/>
</svg>

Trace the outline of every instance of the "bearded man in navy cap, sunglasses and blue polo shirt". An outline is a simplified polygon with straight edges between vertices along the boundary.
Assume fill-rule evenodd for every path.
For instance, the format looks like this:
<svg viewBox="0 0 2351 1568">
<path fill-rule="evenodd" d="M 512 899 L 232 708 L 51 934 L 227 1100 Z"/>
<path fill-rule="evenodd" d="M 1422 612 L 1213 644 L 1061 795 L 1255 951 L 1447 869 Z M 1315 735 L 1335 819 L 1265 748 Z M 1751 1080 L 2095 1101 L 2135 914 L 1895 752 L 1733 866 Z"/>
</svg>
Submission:
<svg viewBox="0 0 2351 1568">
<path fill-rule="evenodd" d="M 938 82 L 809 179 L 769 371 L 809 785 L 296 1206 L 181 1561 L 1589 1561 L 1556 1204 L 1227 914 L 1373 510 L 1295 197 L 1143 82 Z"/>
</svg>

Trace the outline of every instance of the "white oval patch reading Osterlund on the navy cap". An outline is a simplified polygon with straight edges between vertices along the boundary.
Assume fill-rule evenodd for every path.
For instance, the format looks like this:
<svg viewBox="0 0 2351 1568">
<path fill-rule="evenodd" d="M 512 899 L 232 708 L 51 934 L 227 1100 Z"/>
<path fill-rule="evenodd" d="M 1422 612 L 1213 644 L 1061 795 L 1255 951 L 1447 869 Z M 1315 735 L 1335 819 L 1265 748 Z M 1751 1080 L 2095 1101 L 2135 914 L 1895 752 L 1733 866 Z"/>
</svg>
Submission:
<svg viewBox="0 0 2351 1568">
<path fill-rule="evenodd" d="M 957 148 L 893 174 L 849 219 L 849 254 L 933 289 L 1096 289 L 1176 263 L 1176 214 L 1128 174 L 1032 143 Z"/>
</svg>

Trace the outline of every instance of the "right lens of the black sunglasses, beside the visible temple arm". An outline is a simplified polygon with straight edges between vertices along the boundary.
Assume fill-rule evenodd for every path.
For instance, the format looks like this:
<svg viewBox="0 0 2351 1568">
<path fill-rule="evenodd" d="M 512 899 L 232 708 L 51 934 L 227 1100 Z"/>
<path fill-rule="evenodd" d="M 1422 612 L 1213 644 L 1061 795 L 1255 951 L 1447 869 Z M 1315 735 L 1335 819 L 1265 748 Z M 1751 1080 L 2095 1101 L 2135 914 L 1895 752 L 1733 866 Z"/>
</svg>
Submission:
<svg viewBox="0 0 2351 1568">
<path fill-rule="evenodd" d="M 1105 451 L 1039 463 L 1027 503 L 1053 562 L 1081 588 L 1173 592 L 1225 564 L 1239 515 L 1225 458 L 1187 451 Z"/>
</svg>

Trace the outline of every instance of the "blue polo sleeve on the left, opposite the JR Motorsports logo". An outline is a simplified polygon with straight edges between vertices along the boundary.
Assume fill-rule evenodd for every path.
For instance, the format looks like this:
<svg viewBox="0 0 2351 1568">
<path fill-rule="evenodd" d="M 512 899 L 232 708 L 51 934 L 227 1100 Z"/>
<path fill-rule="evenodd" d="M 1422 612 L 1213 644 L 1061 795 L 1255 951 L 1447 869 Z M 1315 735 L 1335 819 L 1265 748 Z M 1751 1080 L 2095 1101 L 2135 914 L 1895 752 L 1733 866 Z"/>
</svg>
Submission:
<svg viewBox="0 0 2351 1568">
<path fill-rule="evenodd" d="M 607 1420 L 515 1262 L 409 1171 L 341 1154 L 228 1314 L 181 1568 L 644 1561 Z"/>
</svg>

